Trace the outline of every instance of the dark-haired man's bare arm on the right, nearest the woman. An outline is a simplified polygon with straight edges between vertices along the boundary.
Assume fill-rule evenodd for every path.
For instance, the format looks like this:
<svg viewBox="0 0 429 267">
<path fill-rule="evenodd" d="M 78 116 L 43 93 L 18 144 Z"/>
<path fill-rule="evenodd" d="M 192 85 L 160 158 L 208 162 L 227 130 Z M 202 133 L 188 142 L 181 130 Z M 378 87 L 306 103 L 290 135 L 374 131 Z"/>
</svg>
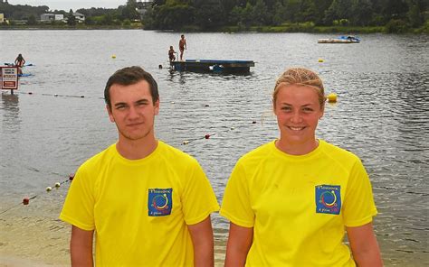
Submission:
<svg viewBox="0 0 429 267">
<path fill-rule="evenodd" d="M 188 225 L 187 228 L 194 244 L 194 266 L 214 266 L 214 241 L 210 216 L 198 224 Z"/>
</svg>

